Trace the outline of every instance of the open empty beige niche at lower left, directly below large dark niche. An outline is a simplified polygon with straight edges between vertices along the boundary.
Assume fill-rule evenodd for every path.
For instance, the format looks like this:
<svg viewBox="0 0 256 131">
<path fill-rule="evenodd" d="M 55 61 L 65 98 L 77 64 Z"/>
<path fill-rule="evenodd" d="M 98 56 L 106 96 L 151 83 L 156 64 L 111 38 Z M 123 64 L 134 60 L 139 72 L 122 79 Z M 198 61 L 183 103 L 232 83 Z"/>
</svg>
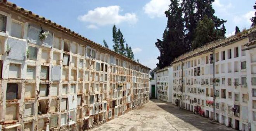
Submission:
<svg viewBox="0 0 256 131">
<path fill-rule="evenodd" d="M 6 121 L 17 121 L 19 116 L 19 104 L 7 104 L 5 112 Z"/>
</svg>

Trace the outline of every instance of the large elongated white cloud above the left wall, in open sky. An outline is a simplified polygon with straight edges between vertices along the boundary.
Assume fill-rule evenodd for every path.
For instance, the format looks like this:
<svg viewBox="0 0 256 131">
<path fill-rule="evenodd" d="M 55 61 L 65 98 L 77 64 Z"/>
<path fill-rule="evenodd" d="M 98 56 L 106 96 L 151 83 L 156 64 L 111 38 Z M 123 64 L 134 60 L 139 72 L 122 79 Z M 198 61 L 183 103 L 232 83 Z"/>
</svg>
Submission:
<svg viewBox="0 0 256 131">
<path fill-rule="evenodd" d="M 138 21 L 135 13 L 125 13 L 125 15 L 120 15 L 119 12 L 121 12 L 121 7 L 117 5 L 97 7 L 94 10 L 89 10 L 85 15 L 78 16 L 78 20 L 97 25 L 112 25 L 122 22 L 136 24 Z"/>
</svg>

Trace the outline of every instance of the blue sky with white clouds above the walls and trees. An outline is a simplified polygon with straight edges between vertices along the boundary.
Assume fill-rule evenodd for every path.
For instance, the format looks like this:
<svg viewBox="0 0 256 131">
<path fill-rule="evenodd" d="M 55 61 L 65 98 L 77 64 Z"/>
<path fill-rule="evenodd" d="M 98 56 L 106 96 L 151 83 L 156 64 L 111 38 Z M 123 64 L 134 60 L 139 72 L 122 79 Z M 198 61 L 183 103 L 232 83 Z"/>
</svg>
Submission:
<svg viewBox="0 0 256 131">
<path fill-rule="evenodd" d="M 67 27 L 112 49 L 112 26 L 123 32 L 135 59 L 150 68 L 156 67 L 159 51 L 156 39 L 162 39 L 167 18 L 164 11 L 170 0 L 10 0 L 18 6 Z M 249 28 L 255 0 L 215 0 L 215 15 L 227 20 L 226 36 Z"/>
</svg>

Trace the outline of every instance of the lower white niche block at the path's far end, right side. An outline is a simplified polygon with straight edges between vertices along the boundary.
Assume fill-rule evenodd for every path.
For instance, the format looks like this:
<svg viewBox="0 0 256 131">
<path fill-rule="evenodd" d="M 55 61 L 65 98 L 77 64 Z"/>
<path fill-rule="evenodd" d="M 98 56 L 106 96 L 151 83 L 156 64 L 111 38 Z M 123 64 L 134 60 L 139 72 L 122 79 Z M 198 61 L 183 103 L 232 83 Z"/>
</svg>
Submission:
<svg viewBox="0 0 256 131">
<path fill-rule="evenodd" d="M 156 72 L 156 97 L 162 101 L 172 102 L 173 67 L 165 67 Z"/>
</svg>

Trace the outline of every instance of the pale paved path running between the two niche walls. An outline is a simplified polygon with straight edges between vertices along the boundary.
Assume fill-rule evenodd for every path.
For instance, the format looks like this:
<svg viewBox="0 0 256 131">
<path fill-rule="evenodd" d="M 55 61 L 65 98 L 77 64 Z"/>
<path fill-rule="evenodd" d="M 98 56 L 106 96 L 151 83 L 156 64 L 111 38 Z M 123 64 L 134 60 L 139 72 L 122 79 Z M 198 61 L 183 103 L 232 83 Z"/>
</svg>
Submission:
<svg viewBox="0 0 256 131">
<path fill-rule="evenodd" d="M 235 131 L 160 100 L 149 103 L 91 131 Z"/>
</svg>

